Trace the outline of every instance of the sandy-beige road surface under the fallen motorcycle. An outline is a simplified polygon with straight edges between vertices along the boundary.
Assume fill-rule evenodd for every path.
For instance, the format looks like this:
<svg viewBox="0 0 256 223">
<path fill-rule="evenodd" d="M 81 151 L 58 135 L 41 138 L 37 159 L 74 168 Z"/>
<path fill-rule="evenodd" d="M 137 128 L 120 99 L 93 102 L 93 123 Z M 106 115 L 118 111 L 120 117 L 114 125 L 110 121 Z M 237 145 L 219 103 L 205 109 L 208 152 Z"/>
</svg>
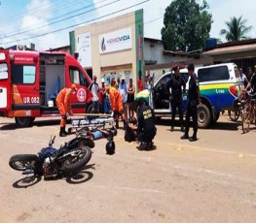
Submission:
<svg viewBox="0 0 256 223">
<path fill-rule="evenodd" d="M 47 146 L 58 120 L 16 129 L 0 118 L 0 222 L 255 222 L 255 128 L 241 134 L 224 115 L 191 143 L 178 127 L 169 131 L 169 120 L 157 127 L 153 150 L 126 143 L 119 130 L 114 155 L 105 154 L 106 140 L 96 141 L 82 173 L 44 180 L 25 178 L 8 161 Z"/>
</svg>

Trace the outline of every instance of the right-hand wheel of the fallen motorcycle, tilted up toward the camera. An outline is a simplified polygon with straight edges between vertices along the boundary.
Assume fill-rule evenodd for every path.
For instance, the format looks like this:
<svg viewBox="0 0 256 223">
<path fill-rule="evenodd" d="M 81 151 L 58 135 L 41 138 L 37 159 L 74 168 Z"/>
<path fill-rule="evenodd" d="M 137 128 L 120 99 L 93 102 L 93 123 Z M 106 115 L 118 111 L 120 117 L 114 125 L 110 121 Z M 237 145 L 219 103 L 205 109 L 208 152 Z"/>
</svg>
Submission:
<svg viewBox="0 0 256 223">
<path fill-rule="evenodd" d="M 83 167 L 91 160 L 91 148 L 88 146 L 82 146 L 74 149 L 77 152 L 76 155 L 69 155 L 63 162 L 63 168 L 65 172 L 75 173 L 82 170 Z"/>
</svg>

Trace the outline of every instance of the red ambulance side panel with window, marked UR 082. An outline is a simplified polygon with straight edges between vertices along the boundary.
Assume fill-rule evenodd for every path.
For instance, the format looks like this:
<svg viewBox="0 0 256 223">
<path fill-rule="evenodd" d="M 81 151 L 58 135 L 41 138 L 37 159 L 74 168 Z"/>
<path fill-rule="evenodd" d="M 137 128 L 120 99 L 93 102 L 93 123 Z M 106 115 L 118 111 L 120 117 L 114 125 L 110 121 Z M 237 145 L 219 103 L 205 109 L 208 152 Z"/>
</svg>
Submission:
<svg viewBox="0 0 256 223">
<path fill-rule="evenodd" d="M 40 115 L 37 52 L 15 53 L 11 61 L 12 100 L 15 116 Z"/>
</svg>

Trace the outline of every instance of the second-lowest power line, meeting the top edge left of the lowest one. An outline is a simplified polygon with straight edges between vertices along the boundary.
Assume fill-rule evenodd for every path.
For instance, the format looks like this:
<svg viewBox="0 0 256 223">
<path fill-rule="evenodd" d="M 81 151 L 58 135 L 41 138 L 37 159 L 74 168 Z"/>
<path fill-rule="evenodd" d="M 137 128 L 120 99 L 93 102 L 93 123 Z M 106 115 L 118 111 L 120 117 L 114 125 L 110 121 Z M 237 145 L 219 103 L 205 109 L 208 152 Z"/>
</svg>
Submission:
<svg viewBox="0 0 256 223">
<path fill-rule="evenodd" d="M 117 2 L 119 2 L 119 1 L 120 1 L 120 0 L 115 0 L 115 1 L 113 1 L 113 2 L 110 2 L 110 3 L 105 4 L 105 5 L 103 5 L 103 6 L 100 6 L 100 7 L 91 9 L 91 10 L 88 10 L 88 11 L 86 11 L 86 12 L 83 12 L 83 13 L 80 13 L 80 14 L 77 14 L 77 15 L 74 15 L 74 16 L 68 16 L 68 17 L 65 17 L 65 18 L 62 18 L 62 19 L 53 21 L 53 22 L 51 22 L 51 23 L 49 23 L 49 24 L 46 24 L 46 25 L 38 26 L 38 27 L 35 27 L 35 28 L 32 28 L 32 29 L 28 29 L 28 30 L 21 31 L 21 32 L 18 32 L 18 33 L 13 33 L 13 34 L 10 34 L 10 35 L 5 35 L 5 36 L 3 36 L 3 37 L 0 37 L 0 40 L 1 40 L 1 39 L 4 39 L 4 38 L 7 38 L 7 37 L 13 37 L 13 36 L 17 36 L 17 35 L 19 35 L 19 34 L 24 34 L 24 33 L 28 33 L 28 32 L 31 32 L 31 31 L 34 31 L 34 30 L 37 30 L 37 29 L 41 29 L 41 28 L 44 28 L 44 27 L 53 25 L 53 24 L 55 24 L 55 23 L 58 23 L 58 22 L 61 22 L 61 21 L 64 21 L 64 20 L 67 20 L 67 19 L 70 19 L 70 18 L 73 18 L 73 17 L 76 17 L 76 16 L 81 16 L 81 15 L 90 13 L 90 12 L 92 12 L 92 11 L 95 11 L 95 10 L 97 10 L 97 9 L 103 8 L 103 7 L 105 7 L 105 6 L 112 5 L 112 4 L 117 3 Z M 86 8 L 89 8 L 89 7 L 91 7 L 91 5 L 88 6 L 88 7 L 86 7 Z"/>
</svg>

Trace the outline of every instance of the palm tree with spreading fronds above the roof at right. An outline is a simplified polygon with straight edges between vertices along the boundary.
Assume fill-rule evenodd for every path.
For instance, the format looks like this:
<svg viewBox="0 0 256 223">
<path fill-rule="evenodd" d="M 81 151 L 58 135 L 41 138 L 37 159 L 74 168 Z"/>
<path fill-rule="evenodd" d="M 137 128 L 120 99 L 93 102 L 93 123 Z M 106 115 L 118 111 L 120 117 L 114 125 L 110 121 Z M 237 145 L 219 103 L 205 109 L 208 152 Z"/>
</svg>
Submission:
<svg viewBox="0 0 256 223">
<path fill-rule="evenodd" d="M 245 36 L 253 27 L 246 26 L 245 23 L 247 19 L 242 19 L 242 16 L 238 18 L 233 16 L 230 21 L 226 21 L 225 24 L 228 26 L 228 29 L 222 29 L 220 35 L 226 35 L 227 41 L 240 41 L 250 39 Z"/>
</svg>

